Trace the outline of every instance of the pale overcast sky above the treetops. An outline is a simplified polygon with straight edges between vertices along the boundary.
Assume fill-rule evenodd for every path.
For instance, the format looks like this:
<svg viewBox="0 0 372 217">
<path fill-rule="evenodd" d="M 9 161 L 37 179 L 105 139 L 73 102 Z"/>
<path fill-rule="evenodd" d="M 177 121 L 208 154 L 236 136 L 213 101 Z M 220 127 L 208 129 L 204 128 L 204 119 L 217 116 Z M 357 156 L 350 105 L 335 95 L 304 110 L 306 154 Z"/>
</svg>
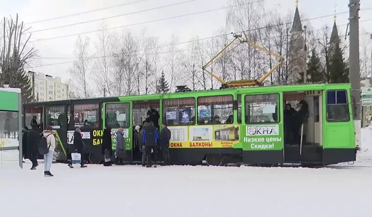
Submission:
<svg viewBox="0 0 372 217">
<path fill-rule="evenodd" d="M 30 31 L 37 31 L 55 26 L 107 18 L 110 16 L 184 1 L 187 0 L 0 0 L 0 15 L 1 17 L 15 17 L 16 13 L 18 13 L 20 20 L 22 20 L 24 23 L 28 23 L 27 25 L 31 26 Z M 151 20 L 158 20 L 224 7 L 228 5 L 229 1 L 230 0 L 194 0 L 192 2 L 171 7 L 106 19 L 105 22 L 108 28 L 128 24 L 138 24 Z M 35 21 L 130 2 L 135 3 L 78 16 L 70 16 L 62 19 L 53 19 L 46 22 L 32 23 Z M 299 10 L 302 17 L 314 18 L 333 14 L 336 4 L 337 13 L 347 12 L 349 11 L 348 3 L 349 0 L 300 0 Z M 283 15 L 287 14 L 288 12 L 293 13 L 296 5 L 295 0 L 265 0 L 264 4 L 267 9 L 275 8 Z M 361 18 L 360 21 L 372 19 L 372 0 L 361 0 L 361 8 L 362 10 L 359 14 Z M 148 24 L 132 25 L 130 27 L 117 28 L 116 30 L 121 31 L 123 29 L 130 29 L 135 33 L 140 33 L 142 30 L 145 30 L 147 36 L 159 37 L 160 42 L 162 43 L 169 40 L 171 35 L 174 33 L 179 37 L 179 41 L 183 42 L 189 40 L 192 34 L 197 34 L 200 38 L 215 35 L 216 30 L 224 26 L 225 15 L 226 9 Z M 348 16 L 348 13 L 338 15 L 337 24 L 347 24 Z M 332 22 L 333 18 L 327 17 L 312 20 L 311 25 L 314 28 L 321 28 L 325 24 L 332 25 Z M 102 21 L 96 21 L 88 24 L 72 25 L 63 28 L 33 32 L 31 41 L 34 41 L 32 44 L 39 50 L 39 55 L 41 57 L 36 62 L 32 63 L 33 66 L 72 61 L 72 58 L 74 57 L 74 41 L 76 40 L 77 36 L 75 35 L 44 41 L 37 40 L 99 30 L 101 27 Z M 372 32 L 372 20 L 362 22 L 360 24 L 360 28 L 365 29 L 367 32 Z M 82 37 L 90 37 L 92 42 L 91 47 L 93 48 L 97 34 L 97 32 L 82 34 Z M 340 27 L 339 34 L 345 34 L 345 26 Z M 65 63 L 52 66 L 33 67 L 33 69 L 30 70 L 35 72 L 44 72 L 53 76 L 61 76 L 63 81 L 66 81 L 68 79 L 67 70 L 71 66 L 72 63 Z"/>
</svg>

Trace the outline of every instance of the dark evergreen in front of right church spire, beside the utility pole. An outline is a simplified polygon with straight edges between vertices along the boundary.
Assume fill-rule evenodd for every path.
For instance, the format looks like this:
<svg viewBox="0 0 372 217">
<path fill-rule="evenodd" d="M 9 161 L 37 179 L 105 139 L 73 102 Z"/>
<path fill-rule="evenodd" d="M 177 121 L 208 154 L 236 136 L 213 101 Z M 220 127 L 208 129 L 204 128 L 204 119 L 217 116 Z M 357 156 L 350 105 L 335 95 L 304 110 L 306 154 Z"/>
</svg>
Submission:
<svg viewBox="0 0 372 217">
<path fill-rule="evenodd" d="M 329 83 L 348 83 L 349 67 L 345 62 L 340 45 L 334 46 L 334 53 L 329 64 Z"/>
</svg>

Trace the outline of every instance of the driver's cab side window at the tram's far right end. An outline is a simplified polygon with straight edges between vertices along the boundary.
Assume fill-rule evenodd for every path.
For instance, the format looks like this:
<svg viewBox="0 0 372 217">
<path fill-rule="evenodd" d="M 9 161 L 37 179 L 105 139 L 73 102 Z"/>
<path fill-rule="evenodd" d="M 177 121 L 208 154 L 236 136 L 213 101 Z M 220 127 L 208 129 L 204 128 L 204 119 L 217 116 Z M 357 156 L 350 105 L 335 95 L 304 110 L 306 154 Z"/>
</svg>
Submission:
<svg viewBox="0 0 372 217">
<path fill-rule="evenodd" d="M 350 121 L 349 104 L 345 90 L 327 91 L 327 121 Z"/>
</svg>

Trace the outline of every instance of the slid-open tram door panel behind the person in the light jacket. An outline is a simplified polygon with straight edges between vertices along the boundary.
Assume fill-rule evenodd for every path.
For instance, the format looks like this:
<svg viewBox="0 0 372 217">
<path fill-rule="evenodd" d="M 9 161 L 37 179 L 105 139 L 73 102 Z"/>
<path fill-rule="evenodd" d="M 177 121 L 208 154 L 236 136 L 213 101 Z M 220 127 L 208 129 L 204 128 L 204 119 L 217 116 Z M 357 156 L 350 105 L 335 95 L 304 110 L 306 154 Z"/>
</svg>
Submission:
<svg viewBox="0 0 372 217">
<path fill-rule="evenodd" d="M 54 149 L 54 159 L 65 161 L 66 138 L 67 138 L 67 106 L 66 105 L 48 105 L 44 107 L 44 129 L 51 126 L 54 129 L 56 137 L 56 148 Z"/>
</svg>

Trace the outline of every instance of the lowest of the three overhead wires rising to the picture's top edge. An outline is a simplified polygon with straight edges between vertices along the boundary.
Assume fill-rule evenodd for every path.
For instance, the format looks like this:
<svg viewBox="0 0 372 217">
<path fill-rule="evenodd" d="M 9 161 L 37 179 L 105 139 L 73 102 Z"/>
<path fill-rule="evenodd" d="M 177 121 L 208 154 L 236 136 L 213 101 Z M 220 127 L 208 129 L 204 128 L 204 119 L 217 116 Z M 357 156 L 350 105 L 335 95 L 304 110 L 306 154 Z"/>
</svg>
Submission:
<svg viewBox="0 0 372 217">
<path fill-rule="evenodd" d="M 107 28 L 107 30 L 116 29 L 116 28 L 124 28 L 124 27 L 133 26 L 133 25 L 155 23 L 155 22 L 159 22 L 159 21 L 171 20 L 171 19 L 175 19 L 175 18 L 187 17 L 187 16 L 192 16 L 192 15 L 197 15 L 197 14 L 203 14 L 203 13 L 208 13 L 208 12 L 212 12 L 212 11 L 217 11 L 217 10 L 222 10 L 222 9 L 227 9 L 227 8 L 242 6 L 242 5 L 245 5 L 245 4 L 247 4 L 247 3 L 233 5 L 233 6 L 220 7 L 220 8 L 215 8 L 215 9 L 210 9 L 210 10 L 205 10 L 205 11 L 199 11 L 199 12 L 190 13 L 190 14 L 184 14 L 184 15 L 178 15 L 178 16 L 173 16 L 173 17 L 167 17 L 167 18 L 162 18 L 162 19 L 157 19 L 157 20 L 150 20 L 150 21 L 145 21 L 145 22 L 136 23 L 136 24 L 121 25 L 121 26 Z M 93 31 L 87 31 L 87 32 L 80 32 L 80 33 L 75 33 L 75 34 L 70 34 L 70 35 L 56 36 L 56 37 L 45 38 L 45 39 L 39 39 L 39 40 L 31 41 L 31 42 L 40 42 L 40 41 L 46 41 L 46 40 L 51 40 L 51 39 L 65 38 L 65 37 L 76 36 L 76 35 L 81 35 L 81 34 L 88 34 L 88 33 L 93 33 L 93 32 L 99 32 L 99 31 L 102 31 L 102 29 L 93 30 Z"/>
</svg>

